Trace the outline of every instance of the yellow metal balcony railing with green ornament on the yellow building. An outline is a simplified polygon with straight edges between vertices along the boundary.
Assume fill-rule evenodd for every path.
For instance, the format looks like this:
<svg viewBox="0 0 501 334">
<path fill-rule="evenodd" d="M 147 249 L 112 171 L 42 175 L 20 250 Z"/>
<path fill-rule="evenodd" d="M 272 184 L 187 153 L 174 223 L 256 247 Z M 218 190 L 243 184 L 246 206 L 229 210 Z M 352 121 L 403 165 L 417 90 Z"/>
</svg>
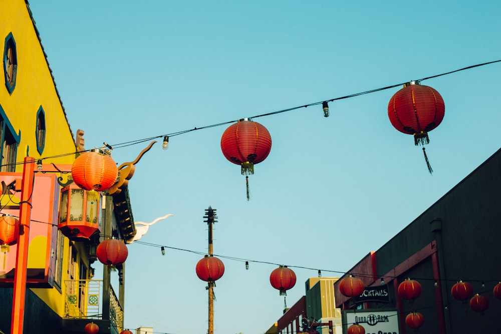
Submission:
<svg viewBox="0 0 501 334">
<path fill-rule="evenodd" d="M 65 281 L 65 313 L 67 317 L 103 319 L 102 279 L 72 279 Z M 110 321 L 122 327 L 124 312 L 115 291 L 110 286 Z"/>
</svg>

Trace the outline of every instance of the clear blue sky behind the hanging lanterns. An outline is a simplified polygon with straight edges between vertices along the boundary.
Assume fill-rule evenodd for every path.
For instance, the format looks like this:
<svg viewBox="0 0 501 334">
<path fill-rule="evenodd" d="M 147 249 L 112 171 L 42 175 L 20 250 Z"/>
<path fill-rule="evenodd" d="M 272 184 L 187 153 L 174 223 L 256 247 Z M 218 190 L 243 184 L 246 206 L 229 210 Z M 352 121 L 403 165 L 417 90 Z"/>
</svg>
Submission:
<svg viewBox="0 0 501 334">
<path fill-rule="evenodd" d="M 501 59 L 499 1 L 32 0 L 31 9 L 72 130 L 86 148 L 171 134 L 417 80 Z M 499 149 L 501 63 L 422 82 L 445 102 L 426 152 L 395 130 L 400 88 L 255 119 L 273 139 L 249 177 L 220 151 L 227 126 L 155 144 L 129 183 L 136 221 L 174 216 L 129 245 L 125 325 L 158 333 L 207 330 L 195 274 L 206 252 L 204 209 L 217 209 L 214 331 L 259 334 L 284 300 L 269 275 L 338 276 Z M 148 142 L 115 149 L 119 164 Z M 271 262 L 275 264 L 256 263 Z M 97 265 L 97 263 L 95 264 Z M 295 266 L 314 268 L 302 269 Z M 329 272 L 329 270 L 331 272 Z"/>
</svg>

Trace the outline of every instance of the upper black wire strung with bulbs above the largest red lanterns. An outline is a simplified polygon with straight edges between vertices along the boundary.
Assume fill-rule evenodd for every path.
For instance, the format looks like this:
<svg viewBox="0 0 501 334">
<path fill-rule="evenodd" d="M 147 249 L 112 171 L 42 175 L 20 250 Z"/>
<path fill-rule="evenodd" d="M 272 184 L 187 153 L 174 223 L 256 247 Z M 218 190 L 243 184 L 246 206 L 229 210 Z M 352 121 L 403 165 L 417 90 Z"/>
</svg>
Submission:
<svg viewBox="0 0 501 334">
<path fill-rule="evenodd" d="M 421 81 L 424 81 L 424 80 L 433 79 L 433 78 L 437 78 L 437 77 L 449 75 L 449 74 L 452 74 L 452 73 L 456 73 L 456 72 L 460 72 L 460 71 L 465 71 L 465 70 L 477 68 L 477 67 L 480 67 L 480 66 L 486 66 L 486 65 L 490 65 L 490 64 L 494 64 L 494 63 L 499 63 L 499 62 L 501 62 L 501 60 L 495 60 L 495 61 L 491 61 L 491 62 L 476 64 L 476 65 L 471 65 L 471 66 L 467 66 L 467 67 L 464 67 L 464 68 L 461 68 L 461 69 L 457 69 L 457 70 L 453 70 L 453 71 L 449 71 L 449 72 L 445 72 L 445 73 L 441 73 L 441 74 L 436 74 L 436 75 L 425 77 L 425 78 L 418 79 L 418 80 L 415 80 L 415 81 L 421 82 Z M 383 91 L 383 90 L 387 90 L 387 89 L 391 89 L 391 88 L 403 86 L 407 82 L 408 81 L 403 82 L 403 83 L 398 83 L 398 84 L 395 84 L 395 85 L 390 85 L 390 86 L 385 86 L 385 87 L 381 87 L 381 88 L 371 89 L 371 90 L 364 91 L 364 92 L 359 92 L 359 93 L 345 95 L 345 96 L 336 97 L 336 98 L 332 98 L 332 99 L 327 99 L 327 100 L 323 100 L 323 101 L 319 101 L 319 102 L 309 103 L 309 104 L 305 104 L 305 105 L 301 105 L 301 106 L 297 106 L 297 107 L 292 107 L 292 108 L 278 110 L 278 111 L 274 111 L 274 112 L 270 112 L 270 113 L 256 115 L 256 116 L 253 116 L 253 117 L 249 117 L 249 119 L 258 118 L 258 117 L 264 117 L 264 116 L 271 116 L 271 115 L 276 115 L 276 114 L 281 114 L 281 113 L 285 113 L 285 112 L 289 112 L 289 111 L 293 111 L 293 110 L 297 110 L 297 109 L 301 109 L 301 108 L 312 107 L 312 106 L 316 106 L 316 105 L 323 105 L 323 106 L 325 106 L 325 104 L 328 103 L 328 102 L 333 102 L 333 101 L 343 100 L 343 99 L 349 99 L 349 98 L 354 98 L 354 97 L 357 97 L 357 96 L 360 96 L 360 95 L 365 95 L 365 94 L 380 92 L 380 91 Z M 186 134 L 186 133 L 189 133 L 189 132 L 193 132 L 193 131 L 197 131 L 197 130 L 203 130 L 203 129 L 218 127 L 218 126 L 222 126 L 222 125 L 226 125 L 226 124 L 231 124 L 231 123 L 235 123 L 237 121 L 238 121 L 238 119 L 232 120 L 232 121 L 226 121 L 226 122 L 222 122 L 222 123 L 217 123 L 217 124 L 206 125 L 206 126 L 202 126 L 202 127 L 194 127 L 192 129 L 188 129 L 188 130 L 182 130 L 182 131 L 172 132 L 172 133 L 168 133 L 168 134 L 162 134 L 162 135 L 158 135 L 158 136 L 153 136 L 153 137 L 148 137 L 148 138 L 142 138 L 142 139 L 128 141 L 128 142 L 123 142 L 123 143 L 117 143 L 117 144 L 113 144 L 113 145 L 108 145 L 106 143 L 103 143 L 103 144 L 105 146 L 107 146 L 108 148 L 113 148 L 113 149 L 122 148 L 122 147 L 127 147 L 127 146 L 131 146 L 131 145 L 136 145 L 136 144 L 148 142 L 148 141 L 155 140 L 155 139 L 158 139 L 158 138 L 174 137 L 174 136 L 183 135 L 183 134 Z M 88 152 L 88 151 L 90 151 L 90 149 L 82 151 L 82 152 Z M 43 158 L 40 158 L 40 159 L 41 160 L 44 160 L 44 159 L 54 159 L 54 158 L 60 158 L 60 157 L 65 157 L 65 156 L 69 156 L 69 155 L 74 155 L 74 154 L 75 154 L 75 152 L 62 153 L 62 154 L 53 155 L 53 156 L 49 156 L 49 157 L 43 157 Z M 24 164 L 24 161 L 16 162 L 16 163 L 11 163 L 11 164 L 0 165 L 0 167 L 12 166 L 12 165 L 21 165 L 21 164 Z"/>
</svg>

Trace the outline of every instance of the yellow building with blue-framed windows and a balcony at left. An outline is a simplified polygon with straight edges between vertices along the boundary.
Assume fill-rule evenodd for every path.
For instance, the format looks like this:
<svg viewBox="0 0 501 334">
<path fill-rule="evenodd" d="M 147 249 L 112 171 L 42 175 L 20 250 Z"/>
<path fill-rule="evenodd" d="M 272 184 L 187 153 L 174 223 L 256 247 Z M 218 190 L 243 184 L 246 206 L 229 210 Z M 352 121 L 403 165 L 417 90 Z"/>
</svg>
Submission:
<svg viewBox="0 0 501 334">
<path fill-rule="evenodd" d="M 91 319 L 100 333 L 118 333 L 123 326 L 124 288 L 118 296 L 104 266 L 102 280 L 92 280 L 99 230 L 90 238 L 68 238 L 58 230 L 62 183 L 69 173 L 77 146 L 27 0 L 0 2 L 2 72 L 0 87 L 0 179 L 3 182 L 0 215 L 19 212 L 20 177 L 24 158 L 35 163 L 30 205 L 30 242 L 24 308 L 25 333 L 84 332 Z M 80 147 L 80 151 L 82 148 Z M 122 177 L 126 173 L 122 173 Z M 57 180 L 61 177 L 61 180 Z M 69 182 L 71 183 L 71 182 Z M 110 195 L 111 194 L 111 195 Z M 64 195 L 64 193 L 63 193 Z M 130 239 L 135 234 L 127 186 L 102 196 L 101 235 Z M 64 196 L 63 196 L 64 197 Z M 68 204 L 68 203 L 66 203 Z M 70 207 L 64 208 L 71 210 Z M 98 211 L 98 210 L 96 210 Z M 84 215 L 85 216 L 85 215 Z M 96 214 L 96 217 L 98 215 Z M 85 219 L 85 218 L 84 218 Z M 71 235 L 70 235 L 71 237 Z M 0 264 L 0 331 L 9 332 L 17 245 Z M 118 267 L 120 278 L 124 266 Z M 120 279 L 123 282 L 123 279 Z"/>
</svg>

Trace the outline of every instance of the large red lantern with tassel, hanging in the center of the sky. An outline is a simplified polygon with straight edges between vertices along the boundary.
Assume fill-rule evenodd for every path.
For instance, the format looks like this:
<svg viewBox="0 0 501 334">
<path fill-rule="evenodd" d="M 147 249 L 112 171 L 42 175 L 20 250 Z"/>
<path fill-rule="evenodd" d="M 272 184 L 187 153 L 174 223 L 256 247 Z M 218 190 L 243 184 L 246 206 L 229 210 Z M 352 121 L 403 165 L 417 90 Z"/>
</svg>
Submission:
<svg viewBox="0 0 501 334">
<path fill-rule="evenodd" d="M 230 162 L 241 166 L 242 175 L 254 174 L 254 165 L 265 160 L 271 149 L 272 137 L 268 130 L 246 118 L 230 125 L 221 137 L 222 154 Z"/>
</svg>

